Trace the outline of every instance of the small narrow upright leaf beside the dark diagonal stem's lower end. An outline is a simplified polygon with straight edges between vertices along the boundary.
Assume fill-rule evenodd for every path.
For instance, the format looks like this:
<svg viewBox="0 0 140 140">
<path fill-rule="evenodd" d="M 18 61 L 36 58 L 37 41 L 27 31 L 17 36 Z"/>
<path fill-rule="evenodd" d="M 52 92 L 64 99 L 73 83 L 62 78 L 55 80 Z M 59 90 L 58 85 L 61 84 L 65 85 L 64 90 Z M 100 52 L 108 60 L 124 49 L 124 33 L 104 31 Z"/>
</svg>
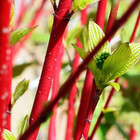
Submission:
<svg viewBox="0 0 140 140">
<path fill-rule="evenodd" d="M 29 126 L 29 116 L 26 115 L 20 125 L 19 136 L 21 136 Z"/>
</svg>

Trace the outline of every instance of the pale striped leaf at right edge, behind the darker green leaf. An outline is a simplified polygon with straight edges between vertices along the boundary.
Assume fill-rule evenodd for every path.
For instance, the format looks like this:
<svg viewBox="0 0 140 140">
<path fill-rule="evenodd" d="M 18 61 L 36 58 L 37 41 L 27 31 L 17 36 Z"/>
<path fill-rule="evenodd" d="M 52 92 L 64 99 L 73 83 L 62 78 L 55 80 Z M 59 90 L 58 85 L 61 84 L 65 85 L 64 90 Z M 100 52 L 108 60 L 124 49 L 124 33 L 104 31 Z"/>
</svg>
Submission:
<svg viewBox="0 0 140 140">
<path fill-rule="evenodd" d="M 140 59 L 140 43 L 131 43 L 129 46 L 131 49 L 130 57 L 127 58 L 125 65 L 120 67 L 120 69 L 118 69 L 118 71 L 114 75 L 112 75 L 112 77 L 110 78 L 111 80 L 126 73 L 130 68 L 132 68 L 139 61 L 139 59 Z"/>
</svg>

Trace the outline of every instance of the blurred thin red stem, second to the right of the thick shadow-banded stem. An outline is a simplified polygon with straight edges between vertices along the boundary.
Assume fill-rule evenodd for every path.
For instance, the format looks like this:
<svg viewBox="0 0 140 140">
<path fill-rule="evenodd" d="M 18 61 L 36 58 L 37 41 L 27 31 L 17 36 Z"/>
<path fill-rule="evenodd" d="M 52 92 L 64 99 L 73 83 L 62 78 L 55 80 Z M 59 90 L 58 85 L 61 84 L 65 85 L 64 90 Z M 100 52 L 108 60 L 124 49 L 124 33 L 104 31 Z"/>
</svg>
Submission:
<svg viewBox="0 0 140 140">
<path fill-rule="evenodd" d="M 87 21 L 87 10 L 88 6 L 81 12 L 81 24 L 86 24 Z M 77 46 L 82 48 L 82 44 L 79 40 L 77 40 Z M 76 71 L 79 65 L 80 56 L 75 51 L 75 57 L 73 61 L 73 72 Z M 78 80 L 78 79 L 77 79 Z M 75 102 L 75 95 L 76 95 L 76 82 L 73 84 L 70 95 L 69 95 L 69 108 L 68 108 L 68 119 L 67 119 L 67 129 L 66 129 L 66 140 L 72 139 L 73 134 L 73 124 L 74 124 L 74 117 L 75 117 L 75 108 L 74 108 L 74 102 Z"/>
</svg>

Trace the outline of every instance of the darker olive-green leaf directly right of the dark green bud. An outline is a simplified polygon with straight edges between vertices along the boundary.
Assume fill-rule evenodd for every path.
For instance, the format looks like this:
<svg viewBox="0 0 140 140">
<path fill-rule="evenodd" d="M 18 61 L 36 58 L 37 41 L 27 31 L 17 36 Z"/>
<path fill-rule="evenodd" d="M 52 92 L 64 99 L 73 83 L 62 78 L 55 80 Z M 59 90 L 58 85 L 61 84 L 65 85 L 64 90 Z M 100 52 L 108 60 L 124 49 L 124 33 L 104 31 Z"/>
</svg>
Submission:
<svg viewBox="0 0 140 140">
<path fill-rule="evenodd" d="M 131 49 L 129 43 L 122 44 L 112 55 L 108 56 L 103 64 L 104 75 L 114 75 L 121 67 L 123 67 L 130 57 Z M 110 79 L 107 79 L 110 80 Z"/>
</svg>

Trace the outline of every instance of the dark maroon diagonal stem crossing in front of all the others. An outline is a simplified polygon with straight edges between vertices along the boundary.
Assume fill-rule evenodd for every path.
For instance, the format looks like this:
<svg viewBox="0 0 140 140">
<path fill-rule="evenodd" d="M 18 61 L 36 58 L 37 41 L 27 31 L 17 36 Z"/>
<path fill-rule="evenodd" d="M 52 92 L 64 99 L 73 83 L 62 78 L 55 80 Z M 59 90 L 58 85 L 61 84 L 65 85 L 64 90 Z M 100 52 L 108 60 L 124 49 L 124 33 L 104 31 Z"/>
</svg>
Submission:
<svg viewBox="0 0 140 140">
<path fill-rule="evenodd" d="M 84 70 L 85 66 L 90 62 L 93 56 L 95 56 L 95 54 L 101 49 L 102 45 L 108 40 L 108 38 L 114 35 L 116 31 L 126 22 L 126 20 L 130 17 L 130 15 L 133 13 L 133 11 L 137 8 L 138 5 L 139 1 L 135 0 L 130 5 L 126 13 L 115 22 L 110 32 L 101 40 L 101 42 L 95 47 L 95 49 L 91 53 L 89 53 L 85 60 L 79 65 L 78 69 L 69 76 L 68 80 L 59 89 L 56 98 L 40 112 L 40 115 L 36 118 L 35 122 L 29 126 L 29 128 L 25 131 L 25 133 L 20 137 L 19 140 L 27 139 L 31 135 L 31 133 L 33 133 L 33 131 L 39 128 L 40 124 L 46 120 L 47 116 L 49 115 L 55 104 L 58 103 L 59 99 L 66 95 L 69 88 L 73 85 L 76 78 Z"/>
</svg>

